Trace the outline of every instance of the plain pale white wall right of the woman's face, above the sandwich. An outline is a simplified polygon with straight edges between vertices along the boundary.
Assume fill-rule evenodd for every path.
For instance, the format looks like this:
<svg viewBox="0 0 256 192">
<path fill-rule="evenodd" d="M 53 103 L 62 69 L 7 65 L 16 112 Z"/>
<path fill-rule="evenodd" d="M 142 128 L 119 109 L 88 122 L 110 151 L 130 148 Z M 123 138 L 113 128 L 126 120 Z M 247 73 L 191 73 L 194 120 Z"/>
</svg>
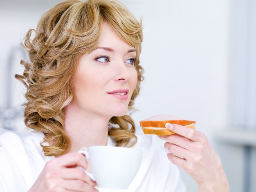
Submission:
<svg viewBox="0 0 256 192">
<path fill-rule="evenodd" d="M 227 1 L 160 0 L 131 10 L 144 19 L 145 81 L 135 102 L 141 110 L 135 120 L 173 114 L 196 120 L 206 134 L 226 124 Z"/>
</svg>

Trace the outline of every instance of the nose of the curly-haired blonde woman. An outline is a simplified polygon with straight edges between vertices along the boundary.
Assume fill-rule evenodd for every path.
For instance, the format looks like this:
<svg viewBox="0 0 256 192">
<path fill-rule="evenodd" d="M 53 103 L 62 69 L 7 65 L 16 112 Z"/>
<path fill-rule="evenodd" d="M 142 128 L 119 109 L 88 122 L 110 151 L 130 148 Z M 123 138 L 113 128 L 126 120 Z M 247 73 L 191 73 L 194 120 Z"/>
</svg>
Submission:
<svg viewBox="0 0 256 192">
<path fill-rule="evenodd" d="M 114 67 L 114 71 L 115 71 L 115 76 L 114 79 L 115 81 L 118 82 L 125 82 L 128 81 L 131 77 L 131 67 L 127 66 L 129 64 L 125 64 L 125 63 L 117 63 L 117 65 L 115 65 Z"/>
</svg>

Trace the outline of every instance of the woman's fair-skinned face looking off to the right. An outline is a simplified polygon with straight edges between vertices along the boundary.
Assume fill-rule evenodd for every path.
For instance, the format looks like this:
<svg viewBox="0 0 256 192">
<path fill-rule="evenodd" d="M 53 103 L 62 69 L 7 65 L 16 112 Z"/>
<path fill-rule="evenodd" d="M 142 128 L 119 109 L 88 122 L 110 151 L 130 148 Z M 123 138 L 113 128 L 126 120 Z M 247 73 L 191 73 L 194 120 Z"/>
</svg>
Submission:
<svg viewBox="0 0 256 192">
<path fill-rule="evenodd" d="M 137 85 L 136 51 L 103 22 L 99 45 L 81 56 L 74 75 L 73 105 L 100 116 L 124 116 Z"/>
</svg>

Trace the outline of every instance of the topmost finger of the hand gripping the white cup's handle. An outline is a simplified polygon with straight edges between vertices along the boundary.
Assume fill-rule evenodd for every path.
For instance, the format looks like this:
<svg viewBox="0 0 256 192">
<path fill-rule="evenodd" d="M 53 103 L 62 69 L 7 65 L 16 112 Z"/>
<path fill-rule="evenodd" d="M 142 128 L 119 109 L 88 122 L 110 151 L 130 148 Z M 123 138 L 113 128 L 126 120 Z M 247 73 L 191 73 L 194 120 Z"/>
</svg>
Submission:
<svg viewBox="0 0 256 192">
<path fill-rule="evenodd" d="M 57 167 L 83 167 L 85 170 L 88 167 L 88 161 L 85 156 L 79 152 L 72 152 L 52 160 L 53 166 Z"/>
</svg>

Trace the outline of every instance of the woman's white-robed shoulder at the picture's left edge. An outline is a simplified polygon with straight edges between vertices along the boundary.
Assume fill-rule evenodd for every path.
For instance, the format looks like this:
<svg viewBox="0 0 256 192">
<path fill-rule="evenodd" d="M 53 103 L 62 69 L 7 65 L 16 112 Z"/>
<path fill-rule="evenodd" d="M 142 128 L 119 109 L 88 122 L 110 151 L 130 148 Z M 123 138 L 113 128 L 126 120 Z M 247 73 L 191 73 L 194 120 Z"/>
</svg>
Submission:
<svg viewBox="0 0 256 192">
<path fill-rule="evenodd" d="M 0 183 L 4 191 L 19 191 L 11 188 L 25 189 L 32 185 L 48 158 L 40 146 L 43 137 L 43 133 L 0 128 Z"/>
</svg>

